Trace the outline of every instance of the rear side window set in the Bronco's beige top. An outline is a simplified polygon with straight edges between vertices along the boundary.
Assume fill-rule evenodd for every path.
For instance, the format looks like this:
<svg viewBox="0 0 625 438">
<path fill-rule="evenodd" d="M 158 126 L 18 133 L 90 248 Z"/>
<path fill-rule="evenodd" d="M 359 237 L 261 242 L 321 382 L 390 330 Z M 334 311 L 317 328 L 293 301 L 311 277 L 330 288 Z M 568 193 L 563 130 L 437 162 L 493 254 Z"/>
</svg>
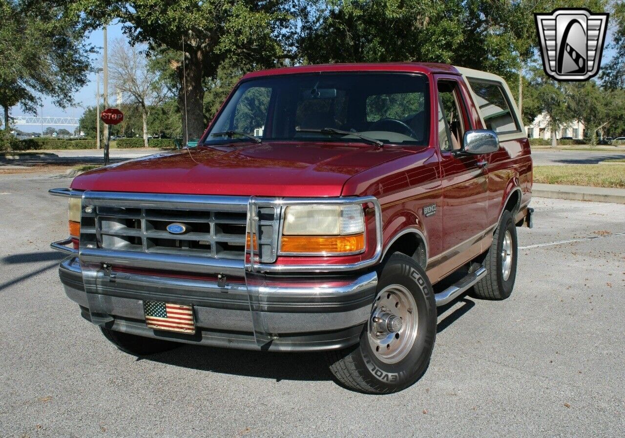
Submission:
<svg viewBox="0 0 625 438">
<path fill-rule="evenodd" d="M 469 79 L 469 84 L 477 96 L 477 106 L 486 123 L 486 129 L 491 129 L 497 134 L 521 132 L 501 84 L 476 79 Z"/>
</svg>

